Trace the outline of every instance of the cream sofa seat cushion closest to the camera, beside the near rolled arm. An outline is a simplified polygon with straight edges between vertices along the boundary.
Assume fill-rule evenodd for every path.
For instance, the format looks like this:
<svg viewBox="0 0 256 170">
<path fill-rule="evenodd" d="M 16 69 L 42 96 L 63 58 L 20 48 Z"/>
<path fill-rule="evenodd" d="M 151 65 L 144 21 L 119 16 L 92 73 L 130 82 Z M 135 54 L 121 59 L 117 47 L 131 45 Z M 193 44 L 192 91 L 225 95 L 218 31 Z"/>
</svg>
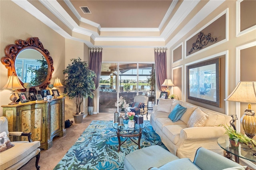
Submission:
<svg viewBox="0 0 256 170">
<path fill-rule="evenodd" d="M 163 127 L 162 132 L 165 134 L 172 143 L 177 144 L 180 138 L 180 130 L 187 128 L 186 125 L 166 125 Z"/>
</svg>

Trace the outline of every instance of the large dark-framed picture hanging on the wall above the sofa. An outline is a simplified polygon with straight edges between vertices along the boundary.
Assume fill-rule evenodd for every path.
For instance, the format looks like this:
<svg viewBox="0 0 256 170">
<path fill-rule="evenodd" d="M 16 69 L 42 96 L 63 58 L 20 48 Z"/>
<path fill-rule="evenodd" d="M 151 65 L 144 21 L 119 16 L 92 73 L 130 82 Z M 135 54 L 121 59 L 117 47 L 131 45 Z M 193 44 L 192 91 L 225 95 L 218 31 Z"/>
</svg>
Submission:
<svg viewBox="0 0 256 170">
<path fill-rule="evenodd" d="M 187 66 L 188 99 L 220 107 L 220 58 Z"/>
</svg>

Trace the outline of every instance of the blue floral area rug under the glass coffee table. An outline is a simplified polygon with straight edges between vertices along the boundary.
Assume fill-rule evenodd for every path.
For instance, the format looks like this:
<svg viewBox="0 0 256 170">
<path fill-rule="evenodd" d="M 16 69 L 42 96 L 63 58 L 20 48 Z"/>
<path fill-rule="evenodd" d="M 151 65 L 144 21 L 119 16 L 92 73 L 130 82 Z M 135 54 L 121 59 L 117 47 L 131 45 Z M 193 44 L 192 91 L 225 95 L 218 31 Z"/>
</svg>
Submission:
<svg viewBox="0 0 256 170">
<path fill-rule="evenodd" d="M 144 122 L 140 147 L 160 145 L 167 149 L 150 122 Z M 120 138 L 121 142 L 126 139 Z M 138 141 L 138 137 L 133 139 Z M 125 155 L 137 149 L 138 145 L 128 138 L 117 152 L 118 138 L 112 121 L 92 121 L 54 170 L 122 170 Z"/>
</svg>

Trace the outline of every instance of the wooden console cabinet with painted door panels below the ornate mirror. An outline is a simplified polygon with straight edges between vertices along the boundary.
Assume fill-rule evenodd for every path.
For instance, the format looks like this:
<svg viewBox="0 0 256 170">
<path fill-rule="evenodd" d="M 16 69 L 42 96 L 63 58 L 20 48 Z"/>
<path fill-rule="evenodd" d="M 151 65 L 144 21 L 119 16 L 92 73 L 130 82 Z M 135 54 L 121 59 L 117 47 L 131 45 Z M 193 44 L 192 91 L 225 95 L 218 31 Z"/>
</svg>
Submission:
<svg viewBox="0 0 256 170">
<path fill-rule="evenodd" d="M 40 141 L 40 148 L 44 150 L 52 146 L 52 139 L 55 136 L 66 134 L 65 97 L 63 96 L 50 101 L 3 105 L 2 108 L 3 116 L 8 119 L 8 130 L 10 132 L 31 132 L 32 140 Z M 22 136 L 10 136 L 10 139 L 12 141 L 26 140 Z"/>
</svg>

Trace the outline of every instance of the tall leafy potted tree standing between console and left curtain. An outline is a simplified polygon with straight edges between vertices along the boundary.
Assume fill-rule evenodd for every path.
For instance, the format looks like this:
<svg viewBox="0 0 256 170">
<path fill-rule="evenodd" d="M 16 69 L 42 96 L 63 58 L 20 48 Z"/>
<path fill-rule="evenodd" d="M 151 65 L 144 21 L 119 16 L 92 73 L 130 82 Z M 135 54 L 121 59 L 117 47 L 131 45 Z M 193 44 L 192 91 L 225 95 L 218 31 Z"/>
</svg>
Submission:
<svg viewBox="0 0 256 170">
<path fill-rule="evenodd" d="M 92 91 L 95 90 L 94 78 L 96 74 L 90 70 L 86 61 L 70 59 L 72 64 L 68 64 L 63 73 L 66 74 L 64 80 L 64 93 L 69 99 L 74 99 L 76 113 L 73 114 L 75 123 L 82 123 L 84 112 L 80 107 L 85 98 L 93 98 Z"/>
</svg>

